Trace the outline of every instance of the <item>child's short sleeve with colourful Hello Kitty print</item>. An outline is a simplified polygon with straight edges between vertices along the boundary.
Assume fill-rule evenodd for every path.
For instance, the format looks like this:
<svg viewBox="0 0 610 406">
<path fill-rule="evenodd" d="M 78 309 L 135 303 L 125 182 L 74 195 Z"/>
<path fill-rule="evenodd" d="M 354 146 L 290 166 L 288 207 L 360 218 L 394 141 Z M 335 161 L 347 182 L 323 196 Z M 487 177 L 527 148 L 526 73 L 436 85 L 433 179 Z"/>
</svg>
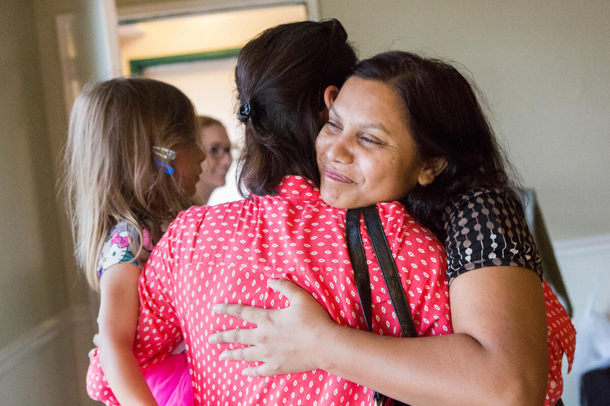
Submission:
<svg viewBox="0 0 610 406">
<path fill-rule="evenodd" d="M 98 262 L 98 278 L 112 265 L 121 262 L 134 264 L 142 268 L 152 250 L 152 242 L 148 230 L 143 229 L 143 243 L 140 244 L 138 230 L 127 222 L 118 222 L 110 230 Z M 142 249 L 140 249 L 142 245 Z M 135 252 L 134 252 L 135 250 Z M 138 253 L 139 251 L 139 253 Z M 135 255 L 137 254 L 137 257 Z"/>
</svg>

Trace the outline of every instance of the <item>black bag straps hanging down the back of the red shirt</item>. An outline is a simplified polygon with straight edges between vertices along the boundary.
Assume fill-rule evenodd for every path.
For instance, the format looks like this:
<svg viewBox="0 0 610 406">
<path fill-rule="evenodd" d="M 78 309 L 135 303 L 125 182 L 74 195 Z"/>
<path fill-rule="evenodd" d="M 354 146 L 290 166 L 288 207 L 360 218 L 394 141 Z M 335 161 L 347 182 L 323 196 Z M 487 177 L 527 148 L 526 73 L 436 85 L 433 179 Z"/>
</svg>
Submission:
<svg viewBox="0 0 610 406">
<path fill-rule="evenodd" d="M 375 257 L 379 262 L 379 267 L 384 276 L 386 287 L 388 289 L 392 306 L 396 312 L 398 323 L 403 337 L 417 337 L 415 325 L 407 304 L 406 296 L 404 296 L 403 286 L 400 282 L 398 270 L 394 264 L 392 251 L 386 240 L 386 234 L 383 231 L 381 220 L 375 205 L 366 208 L 348 209 L 346 215 L 346 236 L 348 254 L 352 268 L 354 269 L 354 282 L 360 298 L 362 313 L 364 314 L 365 323 L 367 323 L 368 331 L 372 331 L 372 307 L 371 307 L 371 288 L 370 277 L 368 276 L 367 259 L 362 245 L 362 235 L 360 233 L 360 215 L 364 213 L 364 223 L 367 226 L 368 236 L 373 244 Z M 406 314 L 401 314 L 404 312 Z M 375 405 L 386 405 L 387 396 L 373 391 L 373 401 Z M 400 401 L 394 401 L 394 406 L 408 406 Z"/>
</svg>

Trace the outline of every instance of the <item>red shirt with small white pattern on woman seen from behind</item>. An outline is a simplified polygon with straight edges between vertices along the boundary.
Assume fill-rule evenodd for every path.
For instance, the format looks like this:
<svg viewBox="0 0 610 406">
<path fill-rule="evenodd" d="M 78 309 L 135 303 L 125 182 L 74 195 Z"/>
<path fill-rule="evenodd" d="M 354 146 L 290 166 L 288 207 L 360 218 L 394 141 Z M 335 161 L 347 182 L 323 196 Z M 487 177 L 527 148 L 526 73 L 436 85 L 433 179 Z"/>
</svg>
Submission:
<svg viewBox="0 0 610 406">
<path fill-rule="evenodd" d="M 345 210 L 331 208 L 301 177 L 286 177 L 279 196 L 193 207 L 171 223 L 140 280 L 141 315 L 134 351 L 143 369 L 187 346 L 196 405 L 370 405 L 370 389 L 314 370 L 251 378 L 249 363 L 220 360 L 224 349 L 207 338 L 248 323 L 212 313 L 216 303 L 271 309 L 289 305 L 267 288 L 287 278 L 308 290 L 339 324 L 366 329 L 345 243 Z M 398 203 L 378 206 L 420 335 L 453 332 L 445 248 Z M 385 284 L 361 223 L 373 301 L 373 331 L 400 335 Z M 116 404 L 101 369 L 88 373 L 91 397 Z"/>
</svg>

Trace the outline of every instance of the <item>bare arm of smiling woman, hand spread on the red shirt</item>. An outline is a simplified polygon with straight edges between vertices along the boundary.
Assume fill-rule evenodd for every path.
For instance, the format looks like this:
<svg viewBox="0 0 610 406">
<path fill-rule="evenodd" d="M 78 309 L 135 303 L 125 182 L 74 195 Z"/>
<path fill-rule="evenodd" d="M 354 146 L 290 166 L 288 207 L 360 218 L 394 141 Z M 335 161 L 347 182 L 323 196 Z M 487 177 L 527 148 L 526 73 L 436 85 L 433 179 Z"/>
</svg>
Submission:
<svg viewBox="0 0 610 406">
<path fill-rule="evenodd" d="M 273 283 L 290 307 L 220 305 L 219 312 L 257 328 L 210 337 L 251 345 L 221 355 L 265 362 L 246 369 L 248 375 L 320 368 L 412 406 L 544 404 L 546 313 L 540 279 L 530 270 L 486 267 L 456 278 L 450 292 L 455 334 L 440 337 L 396 338 L 340 326 L 292 282 Z"/>
</svg>

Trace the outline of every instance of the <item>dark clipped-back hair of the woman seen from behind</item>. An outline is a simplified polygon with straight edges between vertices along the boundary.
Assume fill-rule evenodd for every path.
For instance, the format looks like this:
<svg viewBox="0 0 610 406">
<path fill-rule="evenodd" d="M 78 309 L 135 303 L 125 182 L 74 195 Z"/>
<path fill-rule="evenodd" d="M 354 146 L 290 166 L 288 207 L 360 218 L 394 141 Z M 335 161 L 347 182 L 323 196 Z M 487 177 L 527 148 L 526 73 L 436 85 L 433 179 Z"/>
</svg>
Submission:
<svg viewBox="0 0 610 406">
<path fill-rule="evenodd" d="M 338 23 L 338 22 L 337 22 Z M 235 68 L 239 119 L 245 124 L 238 184 L 247 195 L 277 194 L 285 175 L 320 184 L 315 138 L 323 124 L 322 92 L 341 86 L 356 54 L 329 24 L 301 21 L 260 33 Z"/>
</svg>

